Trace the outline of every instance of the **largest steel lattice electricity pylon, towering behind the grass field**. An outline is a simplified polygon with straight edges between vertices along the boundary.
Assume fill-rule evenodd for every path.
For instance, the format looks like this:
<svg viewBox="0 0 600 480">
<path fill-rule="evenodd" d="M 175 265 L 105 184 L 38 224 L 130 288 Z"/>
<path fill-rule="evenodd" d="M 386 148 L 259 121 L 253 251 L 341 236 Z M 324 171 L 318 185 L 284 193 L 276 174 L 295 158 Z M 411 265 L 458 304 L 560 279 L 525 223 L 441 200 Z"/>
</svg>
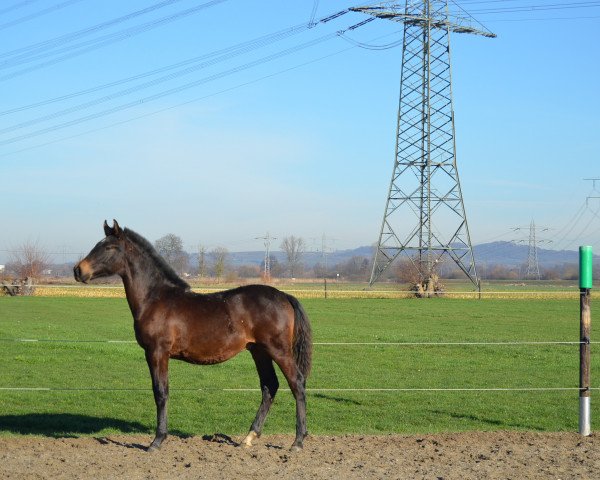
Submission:
<svg viewBox="0 0 600 480">
<path fill-rule="evenodd" d="M 351 10 L 404 23 L 396 155 L 370 283 L 405 252 L 422 282 L 448 255 L 477 287 L 456 167 L 449 37 L 495 35 L 451 16 L 446 0 Z"/>
</svg>

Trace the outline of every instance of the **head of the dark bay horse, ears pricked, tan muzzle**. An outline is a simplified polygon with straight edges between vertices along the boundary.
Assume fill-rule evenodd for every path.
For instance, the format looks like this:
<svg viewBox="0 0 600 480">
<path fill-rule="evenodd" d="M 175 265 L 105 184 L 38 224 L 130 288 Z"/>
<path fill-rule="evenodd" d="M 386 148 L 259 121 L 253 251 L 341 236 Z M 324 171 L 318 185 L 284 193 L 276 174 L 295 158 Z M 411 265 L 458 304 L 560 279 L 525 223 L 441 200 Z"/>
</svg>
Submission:
<svg viewBox="0 0 600 480">
<path fill-rule="evenodd" d="M 104 221 L 106 238 L 92 248 L 73 269 L 75 280 L 87 283 L 92 278 L 119 275 L 125 268 L 125 241 L 121 227 L 113 220 L 112 228 Z"/>
</svg>

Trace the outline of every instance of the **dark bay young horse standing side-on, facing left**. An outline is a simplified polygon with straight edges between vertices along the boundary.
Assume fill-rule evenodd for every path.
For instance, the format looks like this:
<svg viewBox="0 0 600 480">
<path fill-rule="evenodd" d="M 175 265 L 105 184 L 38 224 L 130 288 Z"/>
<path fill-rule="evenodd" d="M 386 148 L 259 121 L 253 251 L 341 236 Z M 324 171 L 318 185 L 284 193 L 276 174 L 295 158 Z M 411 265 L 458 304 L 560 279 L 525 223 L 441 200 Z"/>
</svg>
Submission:
<svg viewBox="0 0 600 480">
<path fill-rule="evenodd" d="M 306 379 L 312 356 L 311 328 L 296 298 L 266 285 L 249 285 L 202 295 L 167 265 L 137 233 L 104 222 L 101 240 L 74 268 L 75 279 L 119 275 L 134 320 L 135 338 L 146 352 L 156 402 L 156 437 L 149 451 L 167 436 L 170 358 L 209 365 L 229 360 L 243 349 L 252 354 L 262 401 L 244 445 L 260 436 L 279 382 L 275 362 L 296 399 L 296 439 L 306 431 Z"/>
</svg>

